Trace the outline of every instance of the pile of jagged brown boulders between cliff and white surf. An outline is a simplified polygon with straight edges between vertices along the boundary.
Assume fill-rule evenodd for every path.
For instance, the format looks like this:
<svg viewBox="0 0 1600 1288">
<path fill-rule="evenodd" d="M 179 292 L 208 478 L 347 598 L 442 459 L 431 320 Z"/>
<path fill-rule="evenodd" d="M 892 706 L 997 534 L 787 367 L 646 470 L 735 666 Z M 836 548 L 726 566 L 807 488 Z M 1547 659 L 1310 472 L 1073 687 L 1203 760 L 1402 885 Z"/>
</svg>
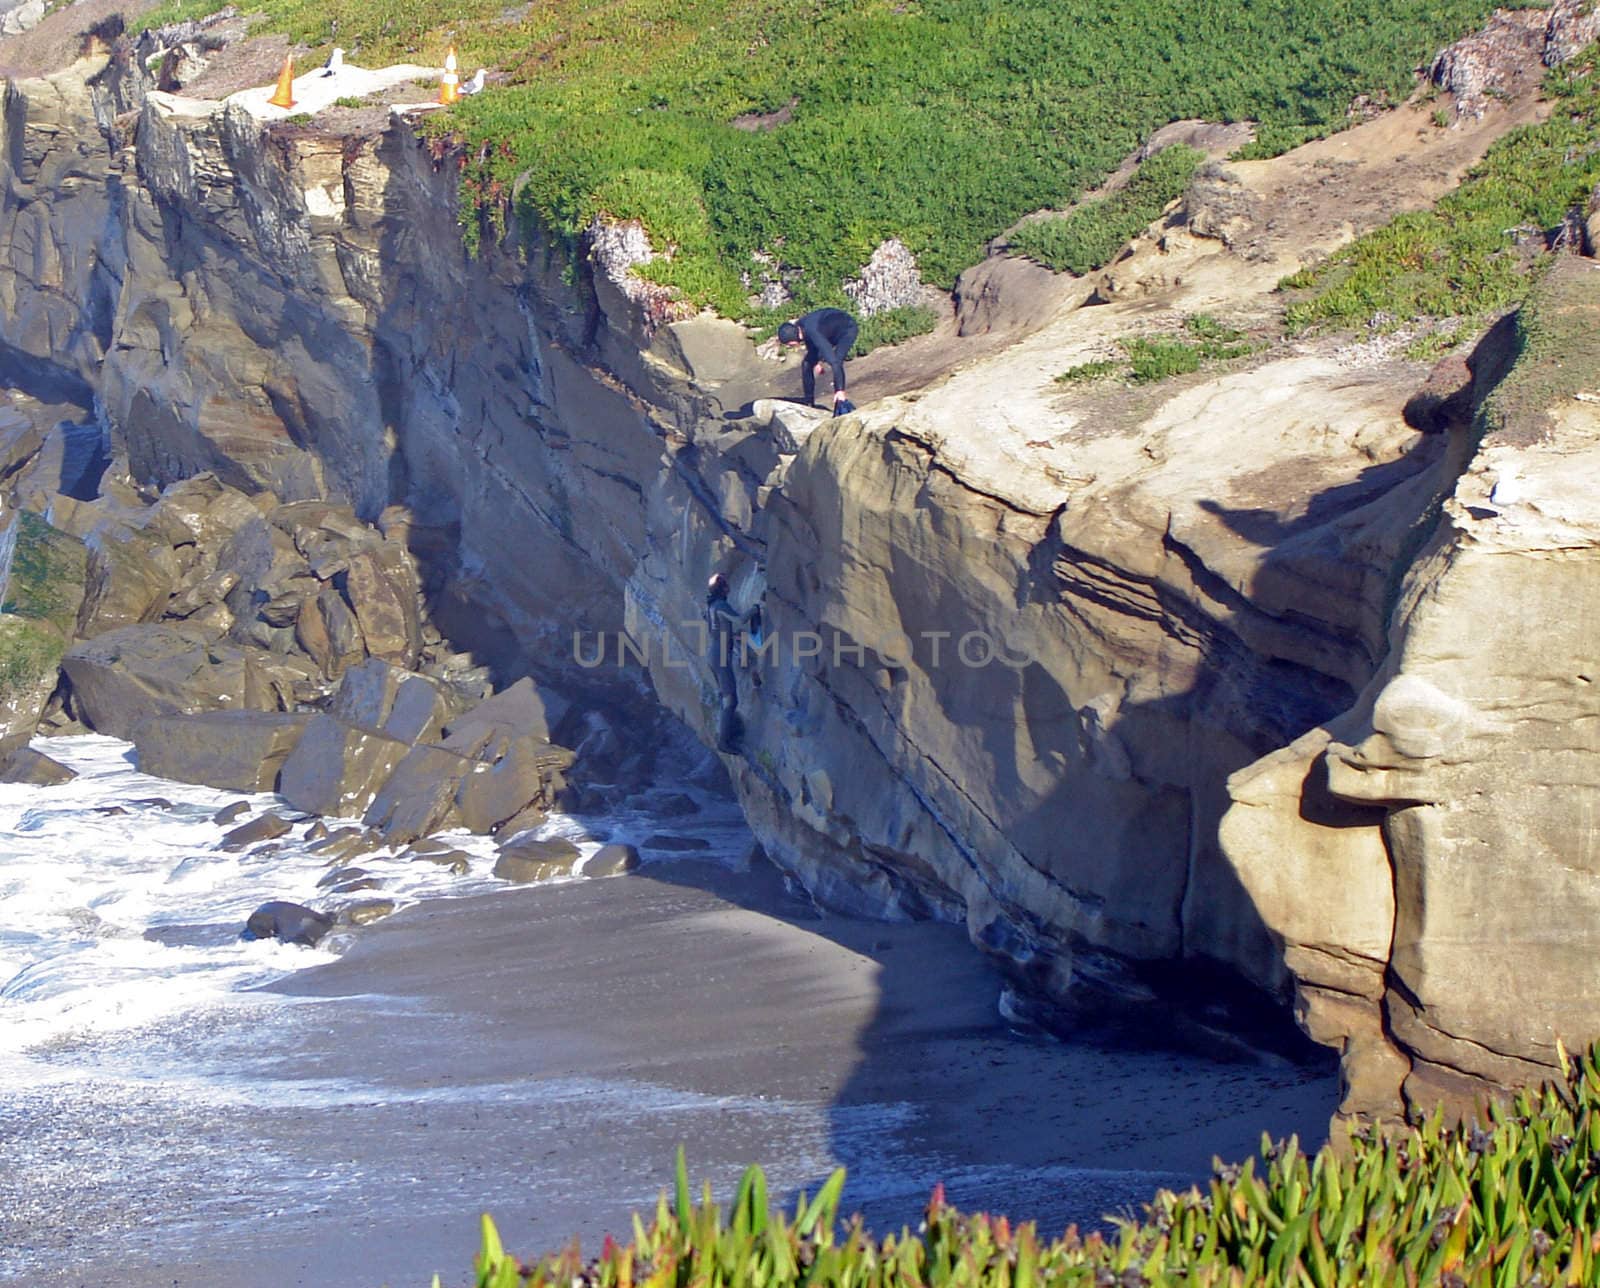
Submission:
<svg viewBox="0 0 1600 1288">
<path fill-rule="evenodd" d="M 64 650 L 59 667 L 42 659 L 37 677 L 8 688 L 0 781 L 70 778 L 27 746 L 35 733 L 126 739 L 146 774 L 277 792 L 285 810 L 238 822 L 221 846 L 264 858 L 285 837 L 310 843 L 333 867 L 334 894 L 376 885 L 354 864 L 378 850 L 464 872 L 467 856 L 434 840 L 458 829 L 498 838 L 504 880 L 574 875 L 578 846 L 534 830 L 552 810 L 643 786 L 648 747 L 624 750 L 598 707 L 526 677 L 494 691 L 488 667 L 443 642 L 411 554 L 429 536 L 403 509 L 374 526 L 349 506 L 285 504 L 210 474 L 158 494 L 78 477 L 70 496 L 46 480 L 77 426 L 40 434 L 35 418 L 53 410 L 29 410 L 34 418 L 0 426 L 0 546 L 13 550 L 5 597 L 21 606 L 8 614 L 18 621 L 48 600 L 48 618 L 32 611 Z M 558 731 L 584 749 L 587 786 L 584 774 L 570 781 L 578 755 L 554 741 Z M 325 819 L 360 822 L 330 829 Z M 605 845 L 581 870 L 614 875 L 638 862 L 632 845 Z M 394 907 L 371 899 L 339 922 Z M 245 933 L 310 946 L 333 925 L 330 914 L 277 902 Z"/>
</svg>

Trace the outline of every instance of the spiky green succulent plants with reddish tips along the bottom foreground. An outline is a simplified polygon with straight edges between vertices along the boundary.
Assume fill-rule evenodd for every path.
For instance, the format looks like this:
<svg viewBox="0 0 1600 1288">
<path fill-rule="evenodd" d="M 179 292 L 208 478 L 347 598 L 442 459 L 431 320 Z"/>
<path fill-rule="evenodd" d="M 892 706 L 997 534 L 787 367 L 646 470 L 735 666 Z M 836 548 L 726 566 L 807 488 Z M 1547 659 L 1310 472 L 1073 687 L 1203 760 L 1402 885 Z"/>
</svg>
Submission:
<svg viewBox="0 0 1600 1288">
<path fill-rule="evenodd" d="M 760 1168 L 726 1214 L 710 1187 L 677 1194 L 632 1243 L 606 1237 L 584 1261 L 576 1242 L 520 1264 L 483 1218 L 478 1288 L 1035 1288 L 1038 1285 L 1509 1285 L 1600 1283 L 1600 1050 L 1563 1077 L 1522 1091 L 1483 1118 L 1440 1114 L 1357 1134 L 1344 1152 L 1306 1155 L 1262 1139 L 1259 1158 L 1214 1165 L 1210 1186 L 1162 1190 L 1139 1221 L 1110 1234 L 1069 1229 L 1042 1242 L 1034 1224 L 963 1214 L 934 1189 L 917 1234 L 882 1240 L 861 1218 L 838 1222 L 845 1173 L 794 1218 L 771 1211 Z M 435 1285 L 438 1280 L 435 1278 Z"/>
</svg>

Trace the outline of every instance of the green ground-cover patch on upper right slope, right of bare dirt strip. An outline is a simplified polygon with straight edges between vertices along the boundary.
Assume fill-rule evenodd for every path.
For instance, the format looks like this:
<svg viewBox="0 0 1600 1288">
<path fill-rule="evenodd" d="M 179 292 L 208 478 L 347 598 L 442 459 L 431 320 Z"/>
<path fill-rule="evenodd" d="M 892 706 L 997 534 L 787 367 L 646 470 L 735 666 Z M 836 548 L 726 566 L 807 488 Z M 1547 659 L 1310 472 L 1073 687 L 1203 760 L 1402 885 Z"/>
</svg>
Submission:
<svg viewBox="0 0 1600 1288">
<path fill-rule="evenodd" d="M 1291 333 L 1395 328 L 1418 317 L 1485 318 L 1515 307 L 1547 267 L 1552 234 L 1600 184 L 1594 61 L 1546 78 L 1549 120 L 1496 142 L 1459 189 L 1400 214 L 1323 264 L 1283 280 Z"/>
</svg>

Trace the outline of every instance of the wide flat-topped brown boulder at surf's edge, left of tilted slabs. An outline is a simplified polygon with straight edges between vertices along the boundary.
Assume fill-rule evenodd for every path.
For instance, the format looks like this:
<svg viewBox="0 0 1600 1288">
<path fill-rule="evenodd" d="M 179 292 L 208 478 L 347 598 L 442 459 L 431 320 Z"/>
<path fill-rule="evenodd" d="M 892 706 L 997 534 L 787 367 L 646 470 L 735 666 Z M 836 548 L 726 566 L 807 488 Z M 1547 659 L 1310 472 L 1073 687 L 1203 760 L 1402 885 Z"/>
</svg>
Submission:
<svg viewBox="0 0 1600 1288">
<path fill-rule="evenodd" d="M 234 792 L 270 792 L 299 742 L 307 714 L 218 710 L 154 715 L 134 723 L 139 771 Z M 248 808 L 240 802 L 230 808 Z M 224 821 L 218 814 L 218 821 Z"/>
</svg>

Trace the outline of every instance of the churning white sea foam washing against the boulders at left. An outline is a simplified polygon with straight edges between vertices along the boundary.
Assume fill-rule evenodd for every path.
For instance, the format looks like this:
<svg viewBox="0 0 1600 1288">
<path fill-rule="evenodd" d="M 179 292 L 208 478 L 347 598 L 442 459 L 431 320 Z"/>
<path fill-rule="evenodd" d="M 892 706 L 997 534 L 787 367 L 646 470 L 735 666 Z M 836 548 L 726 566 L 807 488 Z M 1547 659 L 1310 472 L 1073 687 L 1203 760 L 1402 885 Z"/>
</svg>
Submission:
<svg viewBox="0 0 1600 1288">
<path fill-rule="evenodd" d="M 240 939 L 245 920 L 269 899 L 336 912 L 373 898 L 403 906 L 526 890 L 491 875 L 491 838 L 462 832 L 442 840 L 469 854 L 466 874 L 387 850 L 350 861 L 379 888 L 333 894 L 318 888 L 330 866 L 306 840 L 312 819 L 282 798 L 141 774 L 130 744 L 112 738 L 35 746 L 78 776 L 56 787 L 0 784 L 0 1051 L 37 1053 L 72 1034 L 195 1013 L 330 962 L 349 942 L 349 931 L 317 949 Z M 237 800 L 250 813 L 214 822 L 216 811 Z M 706 858 L 742 862 L 749 832 L 738 810 L 723 800 L 701 803 L 685 830 L 710 843 Z M 603 840 L 638 845 L 670 832 L 670 821 L 653 814 L 648 798 L 645 805 L 603 821 L 552 816 L 541 834 L 574 840 L 587 859 Z M 294 821 L 288 835 L 243 851 L 219 848 L 229 829 L 267 810 Z"/>
</svg>

